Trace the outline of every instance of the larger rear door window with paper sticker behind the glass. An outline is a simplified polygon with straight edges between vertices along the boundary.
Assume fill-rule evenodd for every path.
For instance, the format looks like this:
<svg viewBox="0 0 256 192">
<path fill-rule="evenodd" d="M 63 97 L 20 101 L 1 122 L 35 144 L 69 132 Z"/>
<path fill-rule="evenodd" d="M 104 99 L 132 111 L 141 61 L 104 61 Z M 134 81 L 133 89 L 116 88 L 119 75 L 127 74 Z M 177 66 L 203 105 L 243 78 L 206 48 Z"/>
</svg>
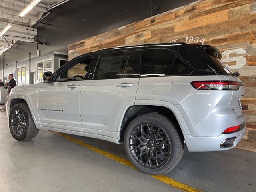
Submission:
<svg viewBox="0 0 256 192">
<path fill-rule="evenodd" d="M 129 52 L 100 54 L 93 79 L 122 78 Z"/>
</svg>

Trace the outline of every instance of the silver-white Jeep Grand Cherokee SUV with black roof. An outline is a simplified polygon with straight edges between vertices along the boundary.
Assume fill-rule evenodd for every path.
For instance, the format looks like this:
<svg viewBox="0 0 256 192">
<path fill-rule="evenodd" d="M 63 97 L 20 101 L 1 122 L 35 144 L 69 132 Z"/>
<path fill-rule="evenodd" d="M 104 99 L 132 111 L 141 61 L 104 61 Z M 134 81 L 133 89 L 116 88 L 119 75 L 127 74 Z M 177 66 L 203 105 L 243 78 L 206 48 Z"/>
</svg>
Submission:
<svg viewBox="0 0 256 192">
<path fill-rule="evenodd" d="M 244 84 L 208 45 L 111 48 L 68 61 L 44 82 L 14 88 L 16 140 L 39 129 L 124 142 L 142 172 L 164 174 L 190 152 L 233 148 L 245 133 Z"/>
</svg>

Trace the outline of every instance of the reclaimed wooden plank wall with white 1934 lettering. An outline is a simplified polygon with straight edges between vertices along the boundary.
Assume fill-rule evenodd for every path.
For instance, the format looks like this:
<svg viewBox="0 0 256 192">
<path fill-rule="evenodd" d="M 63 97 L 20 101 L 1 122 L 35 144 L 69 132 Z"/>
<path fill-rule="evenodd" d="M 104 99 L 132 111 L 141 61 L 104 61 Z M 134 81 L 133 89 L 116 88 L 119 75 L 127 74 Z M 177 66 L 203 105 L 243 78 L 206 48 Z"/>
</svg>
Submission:
<svg viewBox="0 0 256 192">
<path fill-rule="evenodd" d="M 210 44 L 246 86 L 247 132 L 238 148 L 256 151 L 256 2 L 199 0 L 69 45 L 69 59 L 86 52 L 161 42 Z"/>
</svg>

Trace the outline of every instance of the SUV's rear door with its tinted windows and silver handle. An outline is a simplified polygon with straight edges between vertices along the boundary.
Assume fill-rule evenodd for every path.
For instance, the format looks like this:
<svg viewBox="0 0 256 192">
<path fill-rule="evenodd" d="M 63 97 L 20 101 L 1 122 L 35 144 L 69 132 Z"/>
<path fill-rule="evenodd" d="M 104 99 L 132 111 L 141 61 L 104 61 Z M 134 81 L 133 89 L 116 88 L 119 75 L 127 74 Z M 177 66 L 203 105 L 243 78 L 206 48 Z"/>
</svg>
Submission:
<svg viewBox="0 0 256 192">
<path fill-rule="evenodd" d="M 139 73 L 140 50 L 98 56 L 93 78 L 81 90 L 82 132 L 116 138 L 124 112 L 134 105 Z"/>
</svg>

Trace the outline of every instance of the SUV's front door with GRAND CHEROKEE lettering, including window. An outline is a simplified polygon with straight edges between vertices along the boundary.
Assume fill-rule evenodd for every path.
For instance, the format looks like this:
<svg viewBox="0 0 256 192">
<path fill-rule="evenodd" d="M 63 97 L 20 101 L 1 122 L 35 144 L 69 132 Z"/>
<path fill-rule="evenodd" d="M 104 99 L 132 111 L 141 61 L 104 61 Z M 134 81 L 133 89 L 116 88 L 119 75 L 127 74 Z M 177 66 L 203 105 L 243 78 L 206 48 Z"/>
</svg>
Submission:
<svg viewBox="0 0 256 192">
<path fill-rule="evenodd" d="M 81 132 L 80 92 L 90 74 L 93 56 L 82 57 L 53 76 L 53 82 L 38 89 L 41 126 Z"/>
</svg>

